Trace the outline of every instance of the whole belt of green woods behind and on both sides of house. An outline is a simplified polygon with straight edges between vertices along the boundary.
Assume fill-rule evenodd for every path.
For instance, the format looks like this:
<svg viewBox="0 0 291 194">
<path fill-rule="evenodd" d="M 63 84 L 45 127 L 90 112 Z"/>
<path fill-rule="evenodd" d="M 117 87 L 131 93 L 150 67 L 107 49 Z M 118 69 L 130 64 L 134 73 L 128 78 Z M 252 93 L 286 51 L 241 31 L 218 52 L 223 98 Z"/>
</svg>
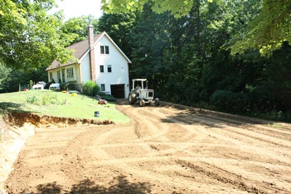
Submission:
<svg viewBox="0 0 291 194">
<path fill-rule="evenodd" d="M 154 3 L 148 1 L 141 8 L 125 13 L 108 12 L 99 19 L 84 16 L 67 21 L 64 21 L 62 13 L 43 13 L 53 4 L 43 6 L 35 3 L 33 8 L 22 6 L 34 15 L 22 17 L 27 22 L 0 18 L 0 90 L 16 91 L 18 83 L 28 83 L 29 80 L 47 81 L 44 69 L 50 62 L 57 57 L 61 60 L 70 57 L 70 53 L 58 46 L 69 46 L 86 39 L 86 27 L 93 24 L 95 33 L 106 31 L 132 60 L 130 77 L 147 78 L 155 95 L 163 101 L 290 121 L 290 22 L 289 29 L 284 32 L 289 39 L 283 39 L 280 46 L 276 43 L 276 48 L 271 46 L 269 50 L 265 46 L 257 48 L 252 42 L 264 40 L 248 34 L 247 30 L 260 24 L 257 18 L 264 13 L 265 1 L 191 2 L 187 14 L 177 15 L 167 10 L 156 12 L 152 8 Z M 291 3 L 285 3 L 290 18 Z M 46 27 L 48 21 L 50 25 Z M 7 24 L 13 25 L 13 22 L 23 25 L 27 34 L 37 37 L 18 45 L 15 40 L 20 39 L 23 32 L 16 27 L 11 32 Z M 34 27 L 45 23 L 44 29 L 38 29 L 45 33 L 38 32 L 41 34 L 39 37 L 29 23 L 34 23 Z M 54 27 L 51 28 L 51 25 Z M 270 35 L 264 34 L 264 37 L 278 31 L 272 29 L 270 27 L 267 30 Z M 252 38 L 243 41 L 244 34 Z M 7 41 L 5 36 L 12 37 L 11 41 Z M 37 57 L 27 57 L 28 54 L 20 49 L 28 42 L 31 43 L 28 46 L 35 47 L 40 39 L 43 48 L 34 50 Z M 13 55 L 11 50 L 14 50 Z M 41 57 L 43 55 L 47 56 L 46 60 Z"/>
</svg>

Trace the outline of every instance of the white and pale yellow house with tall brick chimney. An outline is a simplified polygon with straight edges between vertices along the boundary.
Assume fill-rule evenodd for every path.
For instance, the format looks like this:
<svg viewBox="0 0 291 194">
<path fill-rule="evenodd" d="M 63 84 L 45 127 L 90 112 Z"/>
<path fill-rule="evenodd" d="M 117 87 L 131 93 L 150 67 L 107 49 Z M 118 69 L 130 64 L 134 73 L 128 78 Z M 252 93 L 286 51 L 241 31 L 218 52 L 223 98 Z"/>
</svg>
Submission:
<svg viewBox="0 0 291 194">
<path fill-rule="evenodd" d="M 106 32 L 94 36 L 93 26 L 89 25 L 88 36 L 89 39 L 67 47 L 74 50 L 78 62 L 61 64 L 54 60 L 46 69 L 48 81 L 72 83 L 81 91 L 81 85 L 91 80 L 100 85 L 101 92 L 126 98 L 130 60 Z"/>
</svg>

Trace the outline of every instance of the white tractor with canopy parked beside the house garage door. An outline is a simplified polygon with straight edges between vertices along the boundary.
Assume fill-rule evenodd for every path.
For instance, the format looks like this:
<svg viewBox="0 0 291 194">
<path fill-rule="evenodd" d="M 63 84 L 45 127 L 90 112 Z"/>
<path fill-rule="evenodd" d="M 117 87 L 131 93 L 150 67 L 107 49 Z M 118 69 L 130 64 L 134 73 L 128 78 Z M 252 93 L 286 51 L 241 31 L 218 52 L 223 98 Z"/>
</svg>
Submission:
<svg viewBox="0 0 291 194">
<path fill-rule="evenodd" d="M 144 85 L 146 82 L 146 85 Z M 145 106 L 145 104 L 154 104 L 158 106 L 160 100 L 158 98 L 154 99 L 154 90 L 147 89 L 147 79 L 133 79 L 133 89 L 128 95 L 129 104 L 138 103 L 140 106 Z"/>
</svg>

